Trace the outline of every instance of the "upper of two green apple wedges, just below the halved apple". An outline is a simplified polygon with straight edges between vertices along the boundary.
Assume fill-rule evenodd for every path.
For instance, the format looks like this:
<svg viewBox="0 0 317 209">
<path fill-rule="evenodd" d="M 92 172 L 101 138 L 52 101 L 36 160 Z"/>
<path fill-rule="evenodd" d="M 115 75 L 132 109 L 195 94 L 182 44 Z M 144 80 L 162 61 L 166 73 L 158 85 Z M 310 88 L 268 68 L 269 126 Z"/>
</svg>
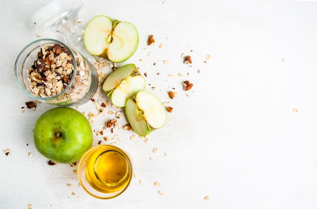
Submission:
<svg viewBox="0 0 317 209">
<path fill-rule="evenodd" d="M 103 91 L 108 93 L 113 105 L 124 107 L 126 100 L 145 89 L 145 79 L 134 64 L 114 70 L 104 81 Z"/>
</svg>

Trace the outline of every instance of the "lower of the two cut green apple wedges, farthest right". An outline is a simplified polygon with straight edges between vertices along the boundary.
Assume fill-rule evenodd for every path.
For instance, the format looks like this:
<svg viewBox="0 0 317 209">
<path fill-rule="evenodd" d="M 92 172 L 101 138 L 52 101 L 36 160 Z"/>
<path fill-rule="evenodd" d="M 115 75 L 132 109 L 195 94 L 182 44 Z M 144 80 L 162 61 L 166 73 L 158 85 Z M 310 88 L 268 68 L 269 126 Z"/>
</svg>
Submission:
<svg viewBox="0 0 317 209">
<path fill-rule="evenodd" d="M 166 109 L 152 93 L 140 91 L 126 102 L 125 112 L 132 129 L 140 136 L 146 136 L 164 126 Z"/>
</svg>

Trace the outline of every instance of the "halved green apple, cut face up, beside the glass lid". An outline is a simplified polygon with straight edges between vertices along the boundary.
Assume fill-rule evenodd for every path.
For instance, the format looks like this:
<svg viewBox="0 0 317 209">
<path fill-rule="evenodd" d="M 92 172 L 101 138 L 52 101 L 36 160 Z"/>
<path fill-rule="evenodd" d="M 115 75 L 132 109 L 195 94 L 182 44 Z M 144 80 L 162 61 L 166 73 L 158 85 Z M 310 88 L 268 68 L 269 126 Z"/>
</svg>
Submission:
<svg viewBox="0 0 317 209">
<path fill-rule="evenodd" d="M 139 45 L 139 34 L 130 23 L 99 15 L 91 19 L 84 30 L 87 51 L 111 62 L 129 59 Z"/>
</svg>

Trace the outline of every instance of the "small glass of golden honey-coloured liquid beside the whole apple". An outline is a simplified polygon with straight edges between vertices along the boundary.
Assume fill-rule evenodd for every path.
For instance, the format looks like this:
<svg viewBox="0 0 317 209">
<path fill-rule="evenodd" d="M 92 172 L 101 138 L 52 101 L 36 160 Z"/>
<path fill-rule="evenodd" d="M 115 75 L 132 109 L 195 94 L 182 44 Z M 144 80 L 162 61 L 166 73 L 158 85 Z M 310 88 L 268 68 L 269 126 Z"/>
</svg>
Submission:
<svg viewBox="0 0 317 209">
<path fill-rule="evenodd" d="M 99 145 L 88 150 L 78 164 L 78 179 L 93 197 L 110 199 L 122 194 L 132 179 L 132 161 L 122 149 Z"/>
</svg>

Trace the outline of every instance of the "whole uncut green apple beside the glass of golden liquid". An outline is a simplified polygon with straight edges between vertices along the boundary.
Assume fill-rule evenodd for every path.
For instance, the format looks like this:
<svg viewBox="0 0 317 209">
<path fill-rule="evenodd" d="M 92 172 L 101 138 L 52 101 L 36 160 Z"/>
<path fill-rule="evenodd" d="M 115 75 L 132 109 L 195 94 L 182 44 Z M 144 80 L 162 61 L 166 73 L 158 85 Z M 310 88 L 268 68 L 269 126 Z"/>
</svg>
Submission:
<svg viewBox="0 0 317 209">
<path fill-rule="evenodd" d="M 34 145 L 43 156 L 60 163 L 79 160 L 92 146 L 88 119 L 70 107 L 55 107 L 36 120 Z"/>
</svg>

